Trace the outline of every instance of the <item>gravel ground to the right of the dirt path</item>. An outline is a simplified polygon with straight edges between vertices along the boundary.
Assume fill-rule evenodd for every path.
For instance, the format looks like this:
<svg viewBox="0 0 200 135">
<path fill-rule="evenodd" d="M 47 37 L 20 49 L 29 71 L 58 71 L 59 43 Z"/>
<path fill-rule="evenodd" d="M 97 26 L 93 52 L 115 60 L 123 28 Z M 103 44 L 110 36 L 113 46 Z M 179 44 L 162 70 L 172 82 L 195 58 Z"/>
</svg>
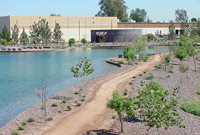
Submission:
<svg viewBox="0 0 200 135">
<path fill-rule="evenodd" d="M 200 56 L 200 54 L 198 54 Z M 170 93 L 173 92 L 173 89 L 180 85 L 179 99 L 180 105 L 187 101 L 197 100 L 200 101 L 200 97 L 195 93 L 198 87 L 200 87 L 200 59 L 197 62 L 198 71 L 194 72 L 193 59 L 185 59 L 183 61 L 184 65 L 189 65 L 190 69 L 188 71 L 188 77 L 184 73 L 179 72 L 178 60 L 173 58 L 171 65 L 174 66 L 174 73 L 164 73 L 162 70 L 155 69 L 151 73 L 154 75 L 154 79 L 160 83 L 165 89 L 169 90 Z M 135 97 L 137 95 L 138 89 L 142 88 L 141 80 L 145 80 L 146 76 L 149 76 L 150 73 L 143 74 L 142 77 L 137 77 L 132 82 L 132 89 L 129 90 L 129 96 Z M 166 76 L 170 75 L 170 78 Z M 182 81 L 180 81 L 182 80 Z M 148 80 L 145 80 L 149 82 Z M 159 133 L 162 135 L 199 135 L 200 134 L 200 117 L 186 113 L 181 109 L 178 109 L 178 112 L 182 118 L 182 123 L 185 125 L 185 128 L 170 127 L 168 130 L 164 128 L 159 129 Z M 112 125 L 112 129 L 116 132 L 120 131 L 120 122 L 116 120 Z M 139 122 L 137 119 L 124 119 L 124 135 L 156 135 L 158 134 L 157 129 L 150 129 L 147 132 L 147 128 L 144 123 Z"/>
</svg>

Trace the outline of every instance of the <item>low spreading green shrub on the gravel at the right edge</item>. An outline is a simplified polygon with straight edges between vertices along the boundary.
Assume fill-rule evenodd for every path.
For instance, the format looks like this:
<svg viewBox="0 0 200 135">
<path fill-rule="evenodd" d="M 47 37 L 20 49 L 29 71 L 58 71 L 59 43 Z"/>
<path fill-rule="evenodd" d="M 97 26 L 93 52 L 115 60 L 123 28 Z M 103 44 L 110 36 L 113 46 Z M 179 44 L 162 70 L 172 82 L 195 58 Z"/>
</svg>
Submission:
<svg viewBox="0 0 200 135">
<path fill-rule="evenodd" d="M 181 109 L 185 112 L 200 116 L 200 104 L 198 103 L 184 103 L 181 105 Z"/>
</svg>

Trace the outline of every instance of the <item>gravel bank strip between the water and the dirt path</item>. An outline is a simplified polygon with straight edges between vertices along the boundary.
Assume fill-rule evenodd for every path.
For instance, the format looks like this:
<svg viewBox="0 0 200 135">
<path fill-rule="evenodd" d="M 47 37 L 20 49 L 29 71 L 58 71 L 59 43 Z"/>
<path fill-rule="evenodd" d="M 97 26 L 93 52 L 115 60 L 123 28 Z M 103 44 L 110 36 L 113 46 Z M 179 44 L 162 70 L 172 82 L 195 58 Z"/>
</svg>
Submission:
<svg viewBox="0 0 200 135">
<path fill-rule="evenodd" d="M 89 79 L 88 81 L 85 81 L 83 83 L 77 84 L 75 86 L 72 86 L 68 89 L 65 89 L 50 98 L 47 99 L 47 118 L 53 117 L 52 121 L 48 121 L 46 124 L 43 119 L 43 110 L 41 109 L 41 102 L 31 106 L 18 116 L 16 116 L 14 119 L 9 121 L 7 124 L 2 126 L 0 128 L 0 135 L 10 135 L 11 132 L 17 131 L 19 135 L 22 134 L 31 134 L 31 135 L 39 135 L 43 132 L 47 131 L 51 127 L 53 127 L 58 121 L 60 121 L 62 118 L 66 117 L 67 115 L 75 112 L 80 107 L 77 106 L 76 100 L 80 102 L 81 104 L 84 104 L 87 100 L 89 100 L 92 97 L 92 94 L 94 93 L 93 88 L 96 86 L 97 83 L 101 83 L 107 78 L 110 78 L 112 76 L 115 76 L 116 74 L 122 73 L 123 71 L 131 68 L 131 66 L 123 65 L 122 67 L 109 72 L 104 75 L 97 76 L 95 78 Z M 84 89 L 81 92 L 81 96 L 86 96 L 84 99 L 85 101 L 81 101 L 83 97 L 80 97 L 79 94 L 74 94 L 77 89 L 80 88 L 80 86 L 84 87 Z M 62 102 L 63 97 L 67 98 L 67 103 L 64 104 Z M 51 107 L 53 103 L 57 103 L 58 107 Z M 67 105 L 72 106 L 72 111 L 67 111 L 66 107 Z M 29 118 L 34 118 L 35 122 L 28 123 L 24 126 L 24 131 L 19 131 L 18 126 L 21 124 L 22 121 L 27 121 Z"/>
</svg>

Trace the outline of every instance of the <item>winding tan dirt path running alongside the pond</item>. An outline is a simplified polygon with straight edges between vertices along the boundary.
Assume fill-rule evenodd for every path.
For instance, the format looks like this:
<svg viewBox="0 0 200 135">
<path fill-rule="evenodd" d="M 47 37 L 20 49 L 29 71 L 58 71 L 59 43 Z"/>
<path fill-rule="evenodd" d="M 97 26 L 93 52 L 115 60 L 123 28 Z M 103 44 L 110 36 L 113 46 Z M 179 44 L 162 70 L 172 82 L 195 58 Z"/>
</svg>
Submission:
<svg viewBox="0 0 200 135">
<path fill-rule="evenodd" d="M 83 105 L 77 112 L 67 116 L 54 128 L 44 135 L 80 135 L 89 130 L 98 130 L 108 127 L 108 118 L 113 112 L 106 108 L 107 98 L 112 92 L 121 87 L 122 84 L 144 71 L 152 69 L 160 62 L 160 57 L 155 55 L 149 62 L 142 63 L 123 74 L 105 80 L 95 87 L 93 98 Z"/>
</svg>

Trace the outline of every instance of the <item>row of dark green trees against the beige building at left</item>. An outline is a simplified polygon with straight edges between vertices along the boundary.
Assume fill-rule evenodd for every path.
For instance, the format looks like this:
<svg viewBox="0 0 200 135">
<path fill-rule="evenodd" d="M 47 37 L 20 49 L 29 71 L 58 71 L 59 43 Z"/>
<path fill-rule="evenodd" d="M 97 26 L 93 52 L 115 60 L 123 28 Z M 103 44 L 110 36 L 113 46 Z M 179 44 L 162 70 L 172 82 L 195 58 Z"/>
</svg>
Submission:
<svg viewBox="0 0 200 135">
<path fill-rule="evenodd" d="M 14 25 L 12 29 L 12 34 L 8 30 L 7 26 L 5 25 L 2 33 L 0 34 L 1 37 L 1 44 L 2 45 L 15 45 L 15 44 L 48 44 L 51 42 L 55 42 L 57 44 L 64 44 L 65 40 L 62 38 L 63 33 L 60 29 L 60 24 L 55 23 L 55 28 L 53 32 L 49 28 L 49 23 L 46 19 L 41 19 L 37 23 L 34 23 L 30 26 L 30 31 L 28 34 L 26 33 L 25 29 L 23 28 L 21 34 L 19 35 L 19 29 L 17 25 Z"/>
</svg>

